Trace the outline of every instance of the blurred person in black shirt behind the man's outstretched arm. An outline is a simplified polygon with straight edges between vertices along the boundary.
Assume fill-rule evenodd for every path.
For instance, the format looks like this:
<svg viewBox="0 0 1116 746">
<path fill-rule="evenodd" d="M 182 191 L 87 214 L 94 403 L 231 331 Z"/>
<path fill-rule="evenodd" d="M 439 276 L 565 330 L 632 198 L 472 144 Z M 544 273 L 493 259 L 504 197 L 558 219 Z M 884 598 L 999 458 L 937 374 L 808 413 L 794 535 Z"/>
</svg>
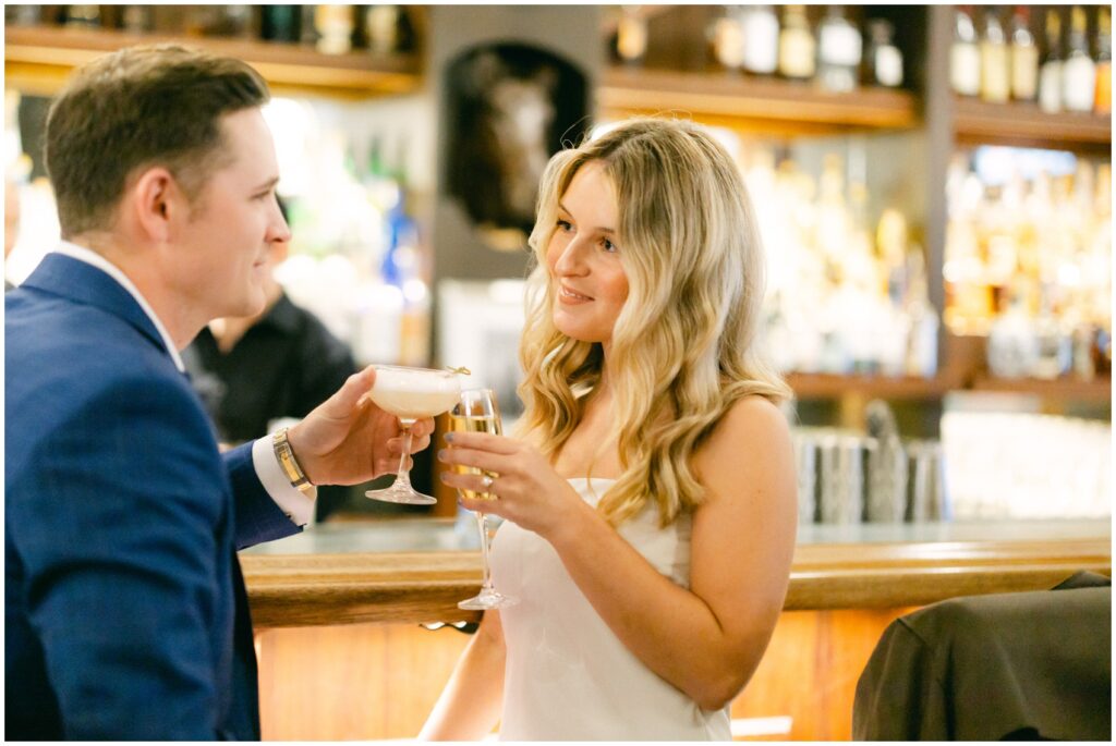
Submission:
<svg viewBox="0 0 1116 746">
<path fill-rule="evenodd" d="M 279 200 L 287 221 L 287 207 Z M 291 302 L 275 279 L 290 253 L 276 240 L 263 274 L 263 310 L 248 317 L 214 319 L 182 351 L 191 382 L 217 425 L 222 443 L 267 435 L 277 420 L 301 419 L 356 372 L 353 355 L 314 313 Z M 315 502 L 320 521 L 349 495 L 323 486 Z"/>
</svg>

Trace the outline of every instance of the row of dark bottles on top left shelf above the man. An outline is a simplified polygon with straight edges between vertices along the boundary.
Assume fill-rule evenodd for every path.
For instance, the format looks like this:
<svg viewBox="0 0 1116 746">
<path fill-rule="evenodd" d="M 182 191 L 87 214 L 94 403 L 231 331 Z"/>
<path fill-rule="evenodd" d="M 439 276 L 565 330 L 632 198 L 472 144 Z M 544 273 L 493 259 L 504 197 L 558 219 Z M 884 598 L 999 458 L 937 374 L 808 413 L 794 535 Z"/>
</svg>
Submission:
<svg viewBox="0 0 1116 746">
<path fill-rule="evenodd" d="M 129 33 L 230 37 L 305 45 L 324 55 L 412 51 L 406 6 L 6 6 L 12 26 L 61 25 Z"/>
</svg>

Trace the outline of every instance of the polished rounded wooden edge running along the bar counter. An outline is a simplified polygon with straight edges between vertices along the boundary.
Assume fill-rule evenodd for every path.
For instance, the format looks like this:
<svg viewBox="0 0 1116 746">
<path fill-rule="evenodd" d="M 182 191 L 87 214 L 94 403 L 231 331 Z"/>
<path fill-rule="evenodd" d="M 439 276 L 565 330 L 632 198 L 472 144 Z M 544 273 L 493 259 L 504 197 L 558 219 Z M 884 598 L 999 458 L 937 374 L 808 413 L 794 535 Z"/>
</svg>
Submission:
<svg viewBox="0 0 1116 746">
<path fill-rule="evenodd" d="M 1077 571 L 1112 577 L 1112 539 L 799 544 L 785 610 L 887 609 L 1052 588 Z M 242 553 L 257 629 L 477 621 L 474 551 Z"/>
</svg>

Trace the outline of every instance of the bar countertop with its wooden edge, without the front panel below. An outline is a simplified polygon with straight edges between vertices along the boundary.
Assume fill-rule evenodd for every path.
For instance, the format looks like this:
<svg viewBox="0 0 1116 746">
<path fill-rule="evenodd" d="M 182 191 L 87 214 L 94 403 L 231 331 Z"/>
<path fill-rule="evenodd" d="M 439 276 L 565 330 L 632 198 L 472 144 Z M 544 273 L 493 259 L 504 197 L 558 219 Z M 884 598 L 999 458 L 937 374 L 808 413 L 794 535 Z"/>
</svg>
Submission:
<svg viewBox="0 0 1116 746">
<path fill-rule="evenodd" d="M 480 554 L 459 545 L 452 521 L 411 519 L 323 524 L 242 552 L 253 621 L 475 621 L 456 602 L 480 588 Z M 786 609 L 922 605 L 1110 569 L 1105 521 L 802 526 Z"/>
</svg>

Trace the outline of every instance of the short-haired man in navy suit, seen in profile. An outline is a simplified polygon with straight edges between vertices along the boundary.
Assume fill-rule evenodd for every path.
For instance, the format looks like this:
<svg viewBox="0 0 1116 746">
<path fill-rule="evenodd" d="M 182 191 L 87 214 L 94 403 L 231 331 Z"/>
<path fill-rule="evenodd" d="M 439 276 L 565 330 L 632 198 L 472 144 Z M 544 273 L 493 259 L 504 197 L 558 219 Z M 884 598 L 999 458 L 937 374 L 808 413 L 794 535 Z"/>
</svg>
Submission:
<svg viewBox="0 0 1116 746">
<path fill-rule="evenodd" d="M 262 308 L 288 238 L 267 100 L 242 62 L 154 47 L 51 107 L 64 241 L 6 297 L 6 738 L 258 739 L 235 550 L 401 457 L 372 369 L 225 454 L 185 377 L 179 350 Z"/>
</svg>

